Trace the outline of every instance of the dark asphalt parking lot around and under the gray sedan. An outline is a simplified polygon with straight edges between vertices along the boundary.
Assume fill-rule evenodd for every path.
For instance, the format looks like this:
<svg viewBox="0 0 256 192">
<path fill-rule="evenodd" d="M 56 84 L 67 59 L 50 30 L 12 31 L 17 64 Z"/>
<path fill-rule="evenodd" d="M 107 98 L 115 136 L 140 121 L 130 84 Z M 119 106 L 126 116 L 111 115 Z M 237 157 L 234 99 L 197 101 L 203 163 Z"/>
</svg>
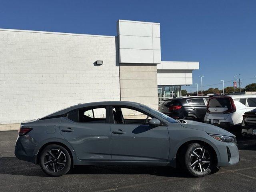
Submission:
<svg viewBox="0 0 256 192">
<path fill-rule="evenodd" d="M 17 135 L 0 132 L 0 192 L 256 191 L 256 140 L 239 134 L 240 162 L 204 178 L 160 166 L 78 166 L 64 176 L 48 177 L 40 166 L 14 156 Z"/>
</svg>

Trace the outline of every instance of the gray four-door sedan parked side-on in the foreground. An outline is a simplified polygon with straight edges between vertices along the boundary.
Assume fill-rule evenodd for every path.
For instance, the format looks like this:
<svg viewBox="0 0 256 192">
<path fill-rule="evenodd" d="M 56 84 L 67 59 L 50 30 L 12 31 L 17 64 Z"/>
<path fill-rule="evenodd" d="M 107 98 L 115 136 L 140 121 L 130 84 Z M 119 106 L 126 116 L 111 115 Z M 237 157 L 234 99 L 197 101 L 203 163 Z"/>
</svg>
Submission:
<svg viewBox="0 0 256 192">
<path fill-rule="evenodd" d="M 201 177 L 239 161 L 230 132 L 123 101 L 78 104 L 24 121 L 15 155 L 50 176 L 74 165 L 156 165 Z"/>
</svg>

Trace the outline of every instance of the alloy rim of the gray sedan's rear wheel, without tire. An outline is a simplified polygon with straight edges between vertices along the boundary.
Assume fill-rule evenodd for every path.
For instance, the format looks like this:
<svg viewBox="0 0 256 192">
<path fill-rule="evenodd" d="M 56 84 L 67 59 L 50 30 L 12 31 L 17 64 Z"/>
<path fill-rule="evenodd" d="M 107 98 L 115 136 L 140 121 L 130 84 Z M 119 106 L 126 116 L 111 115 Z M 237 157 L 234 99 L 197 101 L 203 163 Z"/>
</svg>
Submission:
<svg viewBox="0 0 256 192">
<path fill-rule="evenodd" d="M 66 166 L 66 155 L 60 148 L 51 149 L 44 156 L 44 166 L 51 172 L 59 172 Z"/>
</svg>

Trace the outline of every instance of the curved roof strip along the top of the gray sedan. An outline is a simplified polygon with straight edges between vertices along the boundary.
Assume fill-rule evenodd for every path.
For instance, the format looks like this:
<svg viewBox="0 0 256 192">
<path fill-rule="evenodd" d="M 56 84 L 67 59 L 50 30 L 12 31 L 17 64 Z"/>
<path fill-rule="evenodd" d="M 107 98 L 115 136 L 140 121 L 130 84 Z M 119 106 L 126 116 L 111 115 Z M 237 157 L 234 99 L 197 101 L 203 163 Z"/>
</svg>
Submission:
<svg viewBox="0 0 256 192">
<path fill-rule="evenodd" d="M 72 110 L 76 110 L 76 109 L 79 109 L 79 108 L 92 107 L 92 106 L 103 106 L 103 105 L 125 105 L 125 106 L 131 106 L 131 107 L 138 107 L 138 106 L 143 105 L 143 104 L 136 103 L 136 102 L 130 102 L 130 101 L 90 102 L 90 103 L 84 103 L 84 104 L 77 104 L 77 105 L 73 105 L 73 106 L 58 110 L 56 112 L 53 112 L 52 114 L 49 114 L 47 116 L 44 116 L 44 117 L 40 118 L 40 119 L 53 117 L 53 116 L 60 116 L 60 115 L 63 115 L 67 112 L 70 112 Z"/>
</svg>

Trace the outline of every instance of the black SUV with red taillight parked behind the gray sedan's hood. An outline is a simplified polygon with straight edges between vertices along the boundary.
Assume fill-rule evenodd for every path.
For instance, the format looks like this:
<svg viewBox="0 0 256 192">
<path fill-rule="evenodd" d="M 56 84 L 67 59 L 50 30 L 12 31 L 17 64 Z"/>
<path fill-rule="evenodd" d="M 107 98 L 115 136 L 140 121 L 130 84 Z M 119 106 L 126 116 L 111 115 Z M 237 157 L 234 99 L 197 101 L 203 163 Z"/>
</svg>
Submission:
<svg viewBox="0 0 256 192">
<path fill-rule="evenodd" d="M 158 110 L 174 119 L 204 121 L 208 96 L 177 97 L 164 100 Z"/>
</svg>

